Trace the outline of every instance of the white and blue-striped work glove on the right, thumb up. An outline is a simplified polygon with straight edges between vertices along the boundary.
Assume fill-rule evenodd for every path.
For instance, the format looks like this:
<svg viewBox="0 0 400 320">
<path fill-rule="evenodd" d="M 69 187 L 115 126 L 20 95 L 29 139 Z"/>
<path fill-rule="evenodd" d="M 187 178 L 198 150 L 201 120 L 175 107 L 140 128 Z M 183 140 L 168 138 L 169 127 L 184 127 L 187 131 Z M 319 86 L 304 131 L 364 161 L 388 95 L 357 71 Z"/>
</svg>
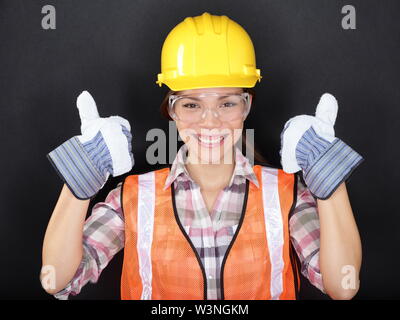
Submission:
<svg viewBox="0 0 400 320">
<path fill-rule="evenodd" d="M 326 200 L 348 179 L 364 158 L 335 137 L 334 124 L 338 104 L 324 93 L 314 116 L 299 115 L 289 119 L 281 132 L 283 171 L 302 170 L 303 179 L 314 197 Z"/>
</svg>

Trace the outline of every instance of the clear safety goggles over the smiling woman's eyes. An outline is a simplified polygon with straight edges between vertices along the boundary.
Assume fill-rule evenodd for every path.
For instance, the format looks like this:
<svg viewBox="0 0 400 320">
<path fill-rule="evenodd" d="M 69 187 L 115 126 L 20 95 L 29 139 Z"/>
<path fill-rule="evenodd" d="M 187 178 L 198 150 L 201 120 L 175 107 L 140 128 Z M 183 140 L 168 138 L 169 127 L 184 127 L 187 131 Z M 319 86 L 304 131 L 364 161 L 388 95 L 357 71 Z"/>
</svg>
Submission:
<svg viewBox="0 0 400 320">
<path fill-rule="evenodd" d="M 204 99 L 206 96 L 212 98 Z M 170 114 L 184 122 L 200 122 L 210 111 L 221 121 L 234 121 L 245 118 L 249 109 L 249 94 L 220 95 L 205 93 L 201 95 L 173 95 L 169 101 Z"/>
</svg>

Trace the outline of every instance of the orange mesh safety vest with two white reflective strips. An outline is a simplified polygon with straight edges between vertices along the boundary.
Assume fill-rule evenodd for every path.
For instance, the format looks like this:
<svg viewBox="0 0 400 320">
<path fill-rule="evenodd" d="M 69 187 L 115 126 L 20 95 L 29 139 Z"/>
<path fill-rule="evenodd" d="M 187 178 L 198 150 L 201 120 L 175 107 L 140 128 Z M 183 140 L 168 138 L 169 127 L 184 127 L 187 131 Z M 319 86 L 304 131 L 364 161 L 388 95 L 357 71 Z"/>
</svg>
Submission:
<svg viewBox="0 0 400 320">
<path fill-rule="evenodd" d="M 246 180 L 242 216 L 221 267 L 222 299 L 296 299 L 300 278 L 288 226 L 296 176 L 261 165 L 253 170 L 260 188 Z M 123 183 L 123 300 L 207 299 L 204 267 L 177 215 L 173 184 L 163 190 L 169 171 Z"/>
</svg>

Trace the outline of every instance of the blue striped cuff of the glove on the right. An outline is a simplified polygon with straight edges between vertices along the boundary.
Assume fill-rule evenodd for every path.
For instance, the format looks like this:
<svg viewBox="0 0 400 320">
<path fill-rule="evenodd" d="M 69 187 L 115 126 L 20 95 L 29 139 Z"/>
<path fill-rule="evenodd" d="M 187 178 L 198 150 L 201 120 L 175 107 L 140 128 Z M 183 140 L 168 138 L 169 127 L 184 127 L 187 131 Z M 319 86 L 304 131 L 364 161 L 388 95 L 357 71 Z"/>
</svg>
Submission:
<svg viewBox="0 0 400 320">
<path fill-rule="evenodd" d="M 326 200 L 347 180 L 364 158 L 342 140 L 332 142 L 310 127 L 296 147 L 296 159 L 311 193 Z"/>
</svg>

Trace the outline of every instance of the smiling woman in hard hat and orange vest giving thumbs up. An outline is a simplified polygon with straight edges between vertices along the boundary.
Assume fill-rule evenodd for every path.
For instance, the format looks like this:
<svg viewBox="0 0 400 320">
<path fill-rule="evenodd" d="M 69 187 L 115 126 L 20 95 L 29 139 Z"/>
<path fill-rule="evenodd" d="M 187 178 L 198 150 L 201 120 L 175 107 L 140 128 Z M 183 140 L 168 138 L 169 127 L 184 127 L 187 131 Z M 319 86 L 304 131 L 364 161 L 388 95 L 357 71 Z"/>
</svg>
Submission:
<svg viewBox="0 0 400 320">
<path fill-rule="evenodd" d="M 171 89 L 162 112 L 184 141 L 171 167 L 128 176 L 84 221 L 109 175 L 134 162 L 129 122 L 100 118 L 87 92 L 77 101 L 82 135 L 48 155 L 65 185 L 43 245 L 43 267 L 56 271 L 46 291 L 79 293 L 124 248 L 122 299 L 295 299 L 294 252 L 313 285 L 353 297 L 361 244 L 344 180 L 362 157 L 331 139 L 327 122 L 295 118 L 281 135 L 287 171 L 250 165 L 237 144 L 261 76 L 250 37 L 226 16 L 186 18 L 161 61 L 157 83 Z M 333 125 L 329 99 L 317 110 Z"/>
</svg>

